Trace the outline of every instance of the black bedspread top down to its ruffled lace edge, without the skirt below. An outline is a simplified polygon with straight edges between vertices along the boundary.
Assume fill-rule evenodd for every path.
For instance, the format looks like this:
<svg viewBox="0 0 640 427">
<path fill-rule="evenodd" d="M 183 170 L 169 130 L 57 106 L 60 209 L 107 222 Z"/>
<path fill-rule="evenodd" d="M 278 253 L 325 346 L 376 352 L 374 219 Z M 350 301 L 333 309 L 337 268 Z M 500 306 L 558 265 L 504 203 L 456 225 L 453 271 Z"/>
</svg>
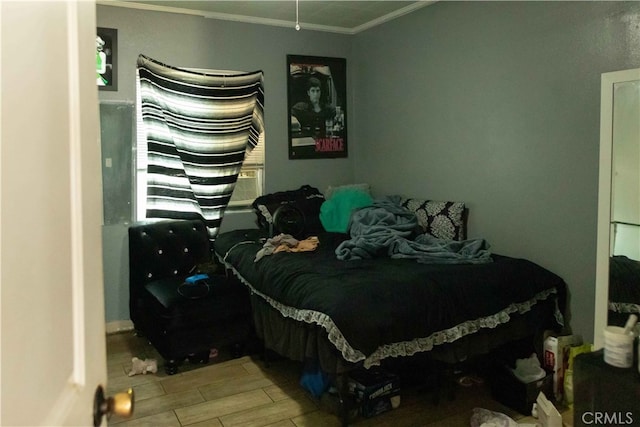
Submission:
<svg viewBox="0 0 640 427">
<path fill-rule="evenodd" d="M 550 271 L 499 255 L 464 265 L 341 261 L 335 248 L 347 236 L 333 233 L 319 235 L 313 252 L 279 252 L 255 262 L 259 237 L 258 230 L 222 233 L 214 248 L 253 292 L 284 316 L 323 326 L 346 360 L 365 365 L 494 328 L 565 292 Z M 561 321 L 558 310 L 555 320 Z"/>
</svg>

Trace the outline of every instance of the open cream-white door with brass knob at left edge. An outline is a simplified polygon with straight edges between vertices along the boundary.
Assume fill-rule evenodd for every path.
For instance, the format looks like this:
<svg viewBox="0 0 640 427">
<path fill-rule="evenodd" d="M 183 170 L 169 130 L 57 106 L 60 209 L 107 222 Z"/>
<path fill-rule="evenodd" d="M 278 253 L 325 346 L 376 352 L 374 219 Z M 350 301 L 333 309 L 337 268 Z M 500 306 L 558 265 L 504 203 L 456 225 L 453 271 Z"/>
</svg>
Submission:
<svg viewBox="0 0 640 427">
<path fill-rule="evenodd" d="M 92 425 L 106 380 L 93 1 L 0 2 L 2 425 Z"/>
</svg>

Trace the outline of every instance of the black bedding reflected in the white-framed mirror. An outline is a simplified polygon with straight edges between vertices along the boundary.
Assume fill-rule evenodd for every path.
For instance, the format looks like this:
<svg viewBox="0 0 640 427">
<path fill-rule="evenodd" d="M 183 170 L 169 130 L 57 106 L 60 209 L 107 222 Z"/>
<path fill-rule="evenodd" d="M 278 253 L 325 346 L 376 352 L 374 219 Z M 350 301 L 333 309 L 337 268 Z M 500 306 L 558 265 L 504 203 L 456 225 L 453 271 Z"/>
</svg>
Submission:
<svg viewBox="0 0 640 427">
<path fill-rule="evenodd" d="M 609 325 L 624 326 L 640 316 L 640 262 L 624 255 L 609 258 Z"/>
</svg>

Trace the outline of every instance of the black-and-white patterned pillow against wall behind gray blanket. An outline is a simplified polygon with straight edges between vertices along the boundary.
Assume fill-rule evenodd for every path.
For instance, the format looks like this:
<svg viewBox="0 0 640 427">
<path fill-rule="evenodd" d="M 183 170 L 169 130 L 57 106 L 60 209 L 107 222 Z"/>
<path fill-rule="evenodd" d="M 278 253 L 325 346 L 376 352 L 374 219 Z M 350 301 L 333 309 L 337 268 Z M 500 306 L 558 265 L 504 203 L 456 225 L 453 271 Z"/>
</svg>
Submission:
<svg viewBox="0 0 640 427">
<path fill-rule="evenodd" d="M 425 233 L 445 240 L 466 238 L 464 202 L 402 199 L 401 204 L 416 214 Z"/>
</svg>

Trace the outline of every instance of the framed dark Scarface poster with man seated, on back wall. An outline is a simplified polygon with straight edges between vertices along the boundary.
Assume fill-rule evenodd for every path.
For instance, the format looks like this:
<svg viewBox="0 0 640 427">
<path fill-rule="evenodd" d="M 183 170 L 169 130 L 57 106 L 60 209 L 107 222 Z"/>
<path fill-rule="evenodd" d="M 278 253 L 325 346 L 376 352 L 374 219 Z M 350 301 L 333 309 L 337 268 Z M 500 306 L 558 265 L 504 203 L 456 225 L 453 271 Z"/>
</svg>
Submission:
<svg viewBox="0 0 640 427">
<path fill-rule="evenodd" d="M 289 158 L 347 157 L 346 60 L 287 56 Z"/>
</svg>

